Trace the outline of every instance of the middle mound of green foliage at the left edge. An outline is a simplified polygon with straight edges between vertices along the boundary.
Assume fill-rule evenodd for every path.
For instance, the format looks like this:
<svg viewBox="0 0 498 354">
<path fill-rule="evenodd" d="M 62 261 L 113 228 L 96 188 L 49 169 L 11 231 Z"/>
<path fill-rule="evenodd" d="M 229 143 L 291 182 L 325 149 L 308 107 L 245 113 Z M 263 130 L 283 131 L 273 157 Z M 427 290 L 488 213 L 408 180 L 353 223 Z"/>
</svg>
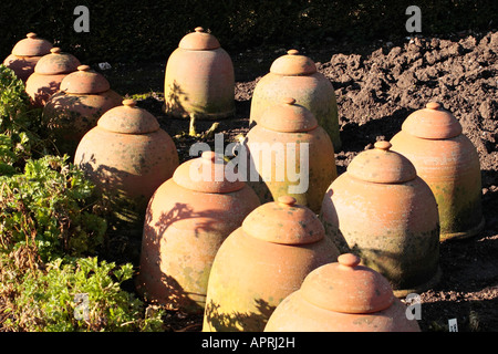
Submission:
<svg viewBox="0 0 498 354">
<path fill-rule="evenodd" d="M 90 212 L 93 186 L 66 157 L 30 159 L 24 174 L 0 177 L 0 186 L 4 251 L 33 242 L 48 262 L 64 254 L 94 253 L 102 244 L 106 222 Z"/>
</svg>

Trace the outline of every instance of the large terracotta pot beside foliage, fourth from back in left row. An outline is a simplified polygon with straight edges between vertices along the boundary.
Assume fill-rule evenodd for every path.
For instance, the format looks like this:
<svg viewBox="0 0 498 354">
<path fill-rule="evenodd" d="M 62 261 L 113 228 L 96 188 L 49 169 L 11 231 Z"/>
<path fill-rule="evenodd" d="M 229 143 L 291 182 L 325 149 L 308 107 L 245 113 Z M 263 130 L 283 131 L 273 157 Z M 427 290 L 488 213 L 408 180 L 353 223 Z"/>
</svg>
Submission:
<svg viewBox="0 0 498 354">
<path fill-rule="evenodd" d="M 148 200 L 178 166 L 178 153 L 156 117 L 125 100 L 83 136 L 74 164 L 110 201 L 116 221 L 142 227 Z"/>
</svg>

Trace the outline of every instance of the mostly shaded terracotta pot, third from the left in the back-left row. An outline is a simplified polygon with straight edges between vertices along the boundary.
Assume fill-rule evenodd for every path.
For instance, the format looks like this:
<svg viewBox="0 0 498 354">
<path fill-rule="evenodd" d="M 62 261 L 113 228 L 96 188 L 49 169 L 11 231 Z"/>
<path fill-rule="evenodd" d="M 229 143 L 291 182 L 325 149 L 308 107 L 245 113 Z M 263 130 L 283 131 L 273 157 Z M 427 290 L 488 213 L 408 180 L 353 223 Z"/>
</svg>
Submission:
<svg viewBox="0 0 498 354">
<path fill-rule="evenodd" d="M 123 97 L 111 90 L 108 81 L 89 65 L 65 76 L 58 93 L 43 107 L 43 123 L 62 154 L 74 156 L 77 144 L 108 110 Z"/>
</svg>

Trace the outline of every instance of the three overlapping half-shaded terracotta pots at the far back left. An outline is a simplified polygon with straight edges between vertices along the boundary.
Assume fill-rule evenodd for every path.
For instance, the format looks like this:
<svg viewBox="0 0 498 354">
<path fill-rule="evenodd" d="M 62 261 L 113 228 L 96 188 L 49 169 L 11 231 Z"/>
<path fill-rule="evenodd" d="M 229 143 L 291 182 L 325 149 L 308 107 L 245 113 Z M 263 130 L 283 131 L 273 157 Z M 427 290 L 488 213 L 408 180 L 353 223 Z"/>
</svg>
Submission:
<svg viewBox="0 0 498 354">
<path fill-rule="evenodd" d="M 31 105 L 43 108 L 43 126 L 61 154 L 74 156 L 81 138 L 123 101 L 102 74 L 35 33 L 19 41 L 3 64 L 25 83 Z"/>
</svg>

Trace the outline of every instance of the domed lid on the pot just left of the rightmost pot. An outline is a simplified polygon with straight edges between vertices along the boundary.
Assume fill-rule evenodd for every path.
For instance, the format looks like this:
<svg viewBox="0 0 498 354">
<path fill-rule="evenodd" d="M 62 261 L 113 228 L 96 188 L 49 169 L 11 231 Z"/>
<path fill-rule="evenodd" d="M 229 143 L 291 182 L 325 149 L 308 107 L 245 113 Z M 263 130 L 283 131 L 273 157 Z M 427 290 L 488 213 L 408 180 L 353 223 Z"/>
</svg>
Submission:
<svg viewBox="0 0 498 354">
<path fill-rule="evenodd" d="M 397 184 L 417 176 L 415 166 L 403 155 L 391 152 L 390 142 L 376 142 L 374 148 L 360 153 L 347 166 L 351 176 L 378 184 Z"/>
</svg>

